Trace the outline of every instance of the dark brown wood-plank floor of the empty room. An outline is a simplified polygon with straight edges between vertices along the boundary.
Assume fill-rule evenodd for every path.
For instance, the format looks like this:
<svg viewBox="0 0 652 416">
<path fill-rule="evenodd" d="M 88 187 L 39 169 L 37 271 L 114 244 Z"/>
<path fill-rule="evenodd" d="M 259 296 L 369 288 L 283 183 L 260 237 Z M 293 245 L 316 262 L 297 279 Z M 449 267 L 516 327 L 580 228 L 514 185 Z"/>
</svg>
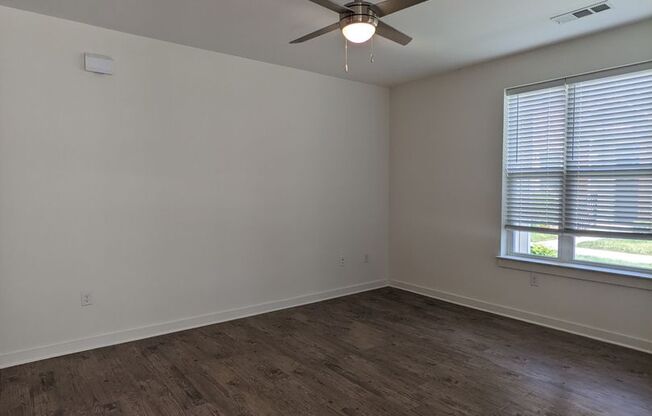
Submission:
<svg viewBox="0 0 652 416">
<path fill-rule="evenodd" d="M 0 370 L 0 415 L 652 415 L 652 355 L 396 289 Z"/>
</svg>

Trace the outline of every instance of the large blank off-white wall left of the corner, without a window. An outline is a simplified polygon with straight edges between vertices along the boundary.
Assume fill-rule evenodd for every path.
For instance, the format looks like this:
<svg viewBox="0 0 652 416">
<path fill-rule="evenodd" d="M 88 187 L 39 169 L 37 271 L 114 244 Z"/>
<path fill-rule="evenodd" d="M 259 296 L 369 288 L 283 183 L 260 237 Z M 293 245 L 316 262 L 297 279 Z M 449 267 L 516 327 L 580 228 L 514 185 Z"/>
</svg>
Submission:
<svg viewBox="0 0 652 416">
<path fill-rule="evenodd" d="M 385 280 L 388 110 L 384 88 L 0 7 L 0 367 Z"/>
</svg>

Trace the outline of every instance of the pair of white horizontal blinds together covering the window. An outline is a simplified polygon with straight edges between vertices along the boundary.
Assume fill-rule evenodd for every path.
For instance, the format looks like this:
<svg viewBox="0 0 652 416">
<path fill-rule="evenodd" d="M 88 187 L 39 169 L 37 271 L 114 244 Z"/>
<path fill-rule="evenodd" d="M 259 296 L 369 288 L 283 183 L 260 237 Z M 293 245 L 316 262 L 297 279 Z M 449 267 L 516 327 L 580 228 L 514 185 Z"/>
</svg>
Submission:
<svg viewBox="0 0 652 416">
<path fill-rule="evenodd" d="M 506 117 L 507 228 L 652 235 L 652 70 L 515 93 Z"/>
</svg>

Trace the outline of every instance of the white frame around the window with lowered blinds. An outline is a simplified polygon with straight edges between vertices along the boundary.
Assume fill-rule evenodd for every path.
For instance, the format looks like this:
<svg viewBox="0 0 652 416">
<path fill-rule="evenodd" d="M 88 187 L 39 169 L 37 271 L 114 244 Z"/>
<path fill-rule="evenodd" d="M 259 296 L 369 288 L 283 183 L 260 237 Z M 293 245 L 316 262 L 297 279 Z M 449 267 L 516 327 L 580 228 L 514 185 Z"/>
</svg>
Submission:
<svg viewBox="0 0 652 416">
<path fill-rule="evenodd" d="M 611 76 L 627 74 L 638 71 L 645 71 L 652 69 L 652 61 L 639 62 L 630 65 L 624 65 L 620 67 L 614 67 L 599 71 L 587 72 L 580 75 L 574 75 L 570 77 L 564 77 L 554 80 L 548 80 L 543 82 L 537 82 L 512 88 L 506 88 L 503 94 L 503 151 L 502 151 L 502 194 L 501 194 L 501 239 L 500 239 L 500 255 L 499 259 L 504 261 L 521 261 L 521 262 L 532 262 L 538 265 L 551 264 L 553 266 L 559 266 L 562 268 L 577 268 L 582 271 L 584 270 L 595 270 L 598 272 L 604 272 L 609 274 L 622 274 L 630 277 L 644 278 L 652 280 L 652 269 L 614 265 L 609 263 L 599 263 L 586 260 L 577 260 L 575 259 L 575 238 L 576 237 L 594 237 L 595 235 L 583 235 L 582 233 L 573 233 L 567 234 L 559 232 L 556 230 L 550 230 L 548 234 L 558 236 L 558 250 L 557 257 L 546 257 L 546 256 L 537 256 L 529 253 L 520 253 L 514 250 L 514 238 L 515 233 L 519 230 L 507 229 L 506 224 L 506 201 L 507 201 L 507 174 L 506 174 L 506 152 L 508 145 L 508 95 L 510 94 L 520 94 L 528 91 L 535 91 L 550 88 L 553 86 L 558 86 L 560 83 L 579 83 L 582 81 L 607 78 Z M 568 111 L 568 109 L 566 110 Z M 537 232 L 537 231 L 528 231 L 524 230 L 523 232 Z M 545 233 L 544 231 L 541 231 Z M 623 236 L 614 235 L 612 237 L 605 235 L 604 238 L 618 238 L 618 239 L 628 239 Z M 630 240 L 639 240 L 638 238 L 629 238 Z M 509 267 L 509 266 L 504 266 Z"/>
</svg>

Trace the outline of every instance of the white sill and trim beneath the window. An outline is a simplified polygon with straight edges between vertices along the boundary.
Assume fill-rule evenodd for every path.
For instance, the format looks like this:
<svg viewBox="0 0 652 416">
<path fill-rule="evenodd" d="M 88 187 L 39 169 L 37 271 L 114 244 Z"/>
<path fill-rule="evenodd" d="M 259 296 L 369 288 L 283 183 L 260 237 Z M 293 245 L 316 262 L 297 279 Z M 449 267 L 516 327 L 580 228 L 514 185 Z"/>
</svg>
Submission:
<svg viewBox="0 0 652 416">
<path fill-rule="evenodd" d="M 647 273 L 515 256 L 498 256 L 497 261 L 507 269 L 652 291 L 652 275 Z"/>
</svg>

